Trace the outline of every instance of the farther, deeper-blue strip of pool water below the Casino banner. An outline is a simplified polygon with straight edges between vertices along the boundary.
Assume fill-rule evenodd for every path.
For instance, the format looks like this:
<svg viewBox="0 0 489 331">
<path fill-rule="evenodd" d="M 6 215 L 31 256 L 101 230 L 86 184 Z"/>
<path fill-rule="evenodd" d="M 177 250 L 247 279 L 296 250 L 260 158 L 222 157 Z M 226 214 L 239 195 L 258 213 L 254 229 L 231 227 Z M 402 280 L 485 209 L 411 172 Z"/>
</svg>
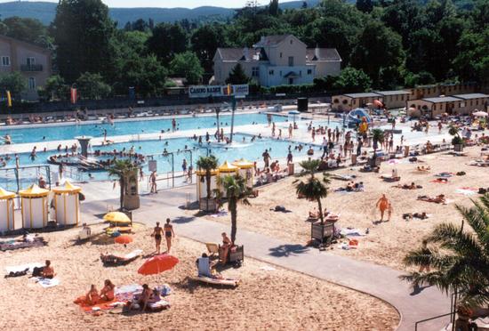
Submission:
<svg viewBox="0 0 489 331">
<path fill-rule="evenodd" d="M 286 117 L 274 118 L 275 121 L 286 121 Z M 200 128 L 215 127 L 215 116 L 180 117 L 176 118 L 178 130 L 192 130 Z M 231 125 L 230 114 L 220 115 L 223 126 Z M 236 114 L 235 125 L 251 125 L 254 123 L 267 123 L 267 115 L 260 113 Z M 107 130 L 108 137 L 126 134 L 161 133 L 162 130 L 172 129 L 172 117 L 141 119 L 132 121 L 116 121 L 114 125 L 109 124 L 80 124 L 80 125 L 32 125 L 28 128 L 2 128 L 0 135 L 9 134 L 13 143 L 39 142 L 39 141 L 64 141 L 85 135 L 92 137 L 103 136 Z"/>
</svg>

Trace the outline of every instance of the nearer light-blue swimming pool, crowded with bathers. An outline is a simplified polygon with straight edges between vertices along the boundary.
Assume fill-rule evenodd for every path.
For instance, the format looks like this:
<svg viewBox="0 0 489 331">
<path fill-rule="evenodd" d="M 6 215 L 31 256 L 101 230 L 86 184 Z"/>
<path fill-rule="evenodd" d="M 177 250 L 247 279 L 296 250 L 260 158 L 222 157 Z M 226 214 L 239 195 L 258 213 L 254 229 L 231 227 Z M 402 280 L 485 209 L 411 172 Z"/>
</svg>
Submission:
<svg viewBox="0 0 489 331">
<path fill-rule="evenodd" d="M 269 149 L 269 154 L 272 159 L 285 158 L 288 154 L 288 148 L 291 146 L 293 151 L 293 157 L 303 157 L 307 154 L 307 148 L 302 149 L 301 151 L 295 149 L 296 146 L 299 146 L 300 143 L 296 141 L 285 141 L 285 140 L 275 140 L 269 138 L 256 138 L 255 141 L 251 141 L 252 136 L 243 133 L 236 133 L 234 135 L 234 140 L 232 145 L 219 145 L 217 143 L 211 144 L 202 144 L 199 145 L 196 141 L 191 138 L 173 138 L 166 140 L 152 140 L 152 141 L 130 141 L 130 142 L 121 142 L 115 143 L 109 146 L 96 146 L 92 148 L 93 150 L 100 151 L 112 151 L 114 149 L 126 151 L 134 148 L 136 153 L 144 154 L 147 159 L 155 159 L 157 165 L 157 173 L 165 174 L 172 172 L 172 165 L 174 166 L 174 172 L 176 174 L 181 174 L 182 168 L 181 165 L 183 163 L 183 159 L 187 161 L 187 164 L 192 164 L 194 169 L 196 169 L 196 160 L 200 156 L 207 155 L 207 152 L 212 153 L 214 156 L 218 157 L 219 163 L 222 164 L 224 161 L 235 161 L 240 158 L 247 159 L 248 161 L 261 161 L 261 154 L 265 151 L 265 149 Z M 302 146 L 305 146 L 302 143 Z M 309 146 L 309 145 L 308 145 Z M 172 154 L 168 154 L 166 156 L 163 155 L 164 149 L 168 152 L 172 152 Z M 209 149 L 209 150 L 207 150 Z M 320 153 L 320 147 L 316 146 L 316 153 Z M 37 152 L 36 159 L 31 160 L 29 153 L 21 153 L 20 157 L 20 165 L 44 165 L 47 163 L 48 157 L 56 154 L 56 151 L 46 151 L 46 152 Z M 7 167 L 15 166 L 15 157 L 12 156 L 12 159 L 8 161 Z M 58 167 L 56 165 L 52 165 L 52 172 L 56 173 L 58 171 Z M 148 163 L 143 166 L 143 170 L 148 174 Z M 5 184 L 8 179 L 5 178 L 4 172 L 0 171 L 0 186 Z M 92 180 L 98 181 L 107 181 L 110 178 L 108 177 L 107 172 L 98 171 L 91 172 Z M 12 176 L 12 175 L 11 175 Z M 33 173 L 34 180 L 36 176 Z M 88 180 L 89 173 L 83 173 L 82 178 L 72 178 L 73 180 Z M 12 181 L 12 178 L 11 178 Z M 33 180 L 31 179 L 30 182 Z"/>
</svg>

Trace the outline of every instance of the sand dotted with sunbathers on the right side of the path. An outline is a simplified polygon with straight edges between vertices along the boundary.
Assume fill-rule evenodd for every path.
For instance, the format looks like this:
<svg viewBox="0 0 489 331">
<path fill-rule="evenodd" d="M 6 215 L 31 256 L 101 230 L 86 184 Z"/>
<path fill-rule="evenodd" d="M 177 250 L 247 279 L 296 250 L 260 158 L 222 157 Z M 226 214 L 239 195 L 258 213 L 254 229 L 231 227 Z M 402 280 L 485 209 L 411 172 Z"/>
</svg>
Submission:
<svg viewBox="0 0 489 331">
<path fill-rule="evenodd" d="M 393 167 L 397 168 L 401 176 L 401 182 L 389 183 L 380 179 L 380 174 L 360 173 L 358 168 L 347 168 L 334 171 L 334 174 L 356 174 L 357 182 L 364 182 L 365 191 L 355 193 L 334 192 L 339 187 L 345 187 L 347 182 L 332 180 L 328 197 L 323 201 L 323 206 L 333 213 L 340 213 L 338 227 L 352 227 L 370 233 L 365 237 L 357 238 L 357 249 L 343 250 L 338 245 L 333 245 L 328 254 L 341 254 L 355 259 L 375 262 L 382 265 L 405 270 L 402 260 L 405 254 L 415 246 L 421 244 L 433 226 L 441 222 L 461 222 L 460 214 L 455 210 L 455 204 L 470 206 L 469 198 L 477 198 L 478 194 L 471 197 L 456 193 L 455 190 L 463 187 L 478 188 L 487 187 L 488 168 L 467 165 L 471 159 L 480 157 L 480 147 L 466 148 L 468 157 L 453 157 L 445 152 L 419 157 L 425 162 L 411 164 L 406 159 L 398 165 L 382 163 L 381 173 L 390 174 Z M 430 165 L 429 173 L 421 173 L 415 170 L 417 165 Z M 453 176 L 447 184 L 432 183 L 436 177 L 434 174 L 441 172 L 457 173 L 465 171 L 463 176 Z M 239 229 L 253 230 L 282 238 L 290 244 L 306 245 L 310 239 L 310 223 L 306 222 L 309 210 L 317 203 L 305 199 L 297 199 L 293 182 L 296 178 L 286 178 L 260 188 L 260 196 L 252 198 L 252 206 L 238 206 L 238 231 Z M 421 190 L 402 190 L 394 188 L 397 183 L 411 183 L 421 185 Z M 382 222 L 380 213 L 375 208 L 376 201 L 386 193 L 392 202 L 394 213 L 390 222 Z M 448 205 L 418 201 L 419 195 L 436 196 L 445 194 L 451 200 Z M 285 206 L 291 213 L 277 213 L 271 211 L 275 206 Z M 224 208 L 227 208 L 225 205 Z M 402 215 L 405 213 L 430 214 L 428 220 L 416 220 L 405 222 Z M 188 212 L 190 213 L 190 212 Z M 190 214 L 195 214 L 191 212 Z M 206 216 L 210 221 L 229 224 L 229 215 L 221 217 Z"/>
</svg>

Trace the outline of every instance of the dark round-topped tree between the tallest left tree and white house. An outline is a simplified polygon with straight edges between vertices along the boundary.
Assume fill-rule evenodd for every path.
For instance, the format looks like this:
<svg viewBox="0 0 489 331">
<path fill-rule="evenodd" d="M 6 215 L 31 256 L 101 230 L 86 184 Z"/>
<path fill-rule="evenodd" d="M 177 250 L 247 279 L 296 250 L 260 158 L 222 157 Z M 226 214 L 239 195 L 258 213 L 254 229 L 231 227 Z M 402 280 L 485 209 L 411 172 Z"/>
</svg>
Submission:
<svg viewBox="0 0 489 331">
<path fill-rule="evenodd" d="M 148 52 L 154 53 L 158 60 L 167 65 L 174 54 L 187 51 L 188 36 L 179 24 L 160 23 L 148 38 Z"/>
</svg>

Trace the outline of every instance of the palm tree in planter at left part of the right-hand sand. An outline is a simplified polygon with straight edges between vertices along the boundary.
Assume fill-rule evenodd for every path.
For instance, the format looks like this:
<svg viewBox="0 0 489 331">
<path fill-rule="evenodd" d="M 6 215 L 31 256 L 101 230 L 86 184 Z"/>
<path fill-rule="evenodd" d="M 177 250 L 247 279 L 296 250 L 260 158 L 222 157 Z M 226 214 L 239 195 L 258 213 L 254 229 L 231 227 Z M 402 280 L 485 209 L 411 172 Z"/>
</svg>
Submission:
<svg viewBox="0 0 489 331">
<path fill-rule="evenodd" d="M 328 195 L 327 184 L 330 183 L 329 175 L 323 174 L 323 180 L 319 180 L 314 174 L 317 172 L 319 165 L 321 165 L 321 160 L 307 160 L 302 161 L 302 169 L 304 169 L 302 175 L 308 175 L 309 178 L 304 182 L 301 180 L 295 181 L 295 188 L 297 194 L 310 201 L 317 202 L 317 208 L 319 210 L 319 220 L 321 224 L 325 223 L 325 215 L 323 213 L 323 204 L 321 203 L 322 198 L 326 198 Z"/>
</svg>

